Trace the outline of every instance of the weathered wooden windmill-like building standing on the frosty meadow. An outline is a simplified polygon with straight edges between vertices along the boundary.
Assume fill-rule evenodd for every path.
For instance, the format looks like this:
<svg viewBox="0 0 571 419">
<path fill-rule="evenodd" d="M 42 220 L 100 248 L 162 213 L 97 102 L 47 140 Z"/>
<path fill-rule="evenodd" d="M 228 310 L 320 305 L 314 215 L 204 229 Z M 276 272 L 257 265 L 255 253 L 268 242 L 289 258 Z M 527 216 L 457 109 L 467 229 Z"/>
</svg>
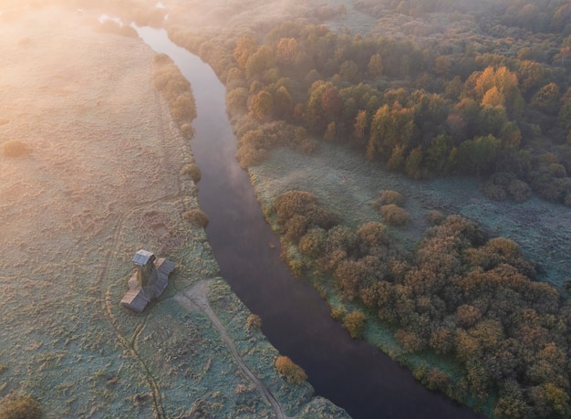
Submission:
<svg viewBox="0 0 571 419">
<path fill-rule="evenodd" d="M 129 290 L 121 299 L 127 309 L 142 312 L 151 299 L 158 299 L 169 285 L 169 275 L 174 263 L 165 258 L 157 259 L 147 250 L 138 251 L 133 257 L 135 272 L 129 279 Z"/>
</svg>

